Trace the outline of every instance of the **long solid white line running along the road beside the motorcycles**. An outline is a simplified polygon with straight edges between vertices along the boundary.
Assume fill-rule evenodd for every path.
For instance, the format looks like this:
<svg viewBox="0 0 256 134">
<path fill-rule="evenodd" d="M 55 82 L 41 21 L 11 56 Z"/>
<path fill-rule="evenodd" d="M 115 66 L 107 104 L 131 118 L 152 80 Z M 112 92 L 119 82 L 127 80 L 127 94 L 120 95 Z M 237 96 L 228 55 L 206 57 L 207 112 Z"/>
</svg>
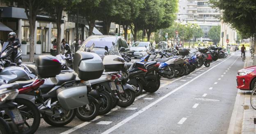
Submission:
<svg viewBox="0 0 256 134">
<path fill-rule="evenodd" d="M 212 70 L 213 68 L 215 68 L 216 66 L 222 64 L 223 62 L 225 62 L 226 60 L 228 60 L 229 58 L 231 58 L 232 55 L 226 59 L 224 59 L 222 62 L 220 62 L 219 64 L 213 66 L 212 68 L 208 69 L 207 71 L 203 72 L 202 74 L 198 75 L 197 77 L 194 77 L 194 79 L 191 79 L 190 81 L 187 81 L 186 83 L 184 83 L 183 85 L 179 86 L 178 88 L 172 90 L 171 92 L 169 92 L 168 94 L 165 94 L 165 96 L 160 97 L 159 99 L 157 99 L 156 101 L 154 101 L 153 103 L 147 105 L 145 108 L 142 108 L 141 110 L 139 110 L 138 112 L 135 112 L 133 115 L 127 117 L 126 119 L 124 119 L 123 121 L 117 123 L 117 125 L 114 125 L 113 127 L 111 127 L 110 129 L 106 130 L 105 132 L 101 133 L 101 134 L 109 134 L 112 131 L 116 130 L 117 128 L 119 128 L 120 126 L 122 126 L 123 124 L 127 123 L 128 121 L 130 121 L 131 119 L 135 118 L 136 116 L 138 116 L 139 114 L 143 113 L 144 111 L 146 111 L 147 109 L 151 108 L 153 105 L 155 105 L 156 103 L 162 101 L 163 99 L 165 99 L 166 97 L 170 96 L 171 94 L 173 94 L 174 92 L 180 90 L 181 88 L 183 88 L 184 86 L 186 86 L 187 84 L 191 83 L 192 81 L 194 81 L 195 79 L 201 77 L 202 75 L 204 75 L 206 72 L 209 72 L 210 70 Z"/>
</svg>

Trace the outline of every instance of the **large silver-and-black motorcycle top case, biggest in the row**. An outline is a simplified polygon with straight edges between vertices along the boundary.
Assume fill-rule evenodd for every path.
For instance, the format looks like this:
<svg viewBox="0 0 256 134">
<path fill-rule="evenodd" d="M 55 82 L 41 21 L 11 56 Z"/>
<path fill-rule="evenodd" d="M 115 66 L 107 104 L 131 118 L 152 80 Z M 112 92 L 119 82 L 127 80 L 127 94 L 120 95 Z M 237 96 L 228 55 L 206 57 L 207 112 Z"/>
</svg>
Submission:
<svg viewBox="0 0 256 134">
<path fill-rule="evenodd" d="M 102 59 L 96 53 L 76 52 L 73 60 L 73 69 L 79 79 L 85 81 L 98 79 L 104 71 Z"/>
</svg>

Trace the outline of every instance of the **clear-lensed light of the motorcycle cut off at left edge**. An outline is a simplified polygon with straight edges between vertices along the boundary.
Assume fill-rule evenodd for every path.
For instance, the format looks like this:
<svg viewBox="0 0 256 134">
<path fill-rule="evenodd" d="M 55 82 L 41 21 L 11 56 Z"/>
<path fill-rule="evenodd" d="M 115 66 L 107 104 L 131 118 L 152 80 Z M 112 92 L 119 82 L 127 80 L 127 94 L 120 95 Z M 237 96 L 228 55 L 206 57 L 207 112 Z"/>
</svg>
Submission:
<svg viewBox="0 0 256 134">
<path fill-rule="evenodd" d="M 0 90 L 0 104 L 4 103 L 6 100 L 12 100 L 15 99 L 16 96 L 18 95 L 18 90 L 7 90 L 7 89 L 2 89 Z"/>
</svg>

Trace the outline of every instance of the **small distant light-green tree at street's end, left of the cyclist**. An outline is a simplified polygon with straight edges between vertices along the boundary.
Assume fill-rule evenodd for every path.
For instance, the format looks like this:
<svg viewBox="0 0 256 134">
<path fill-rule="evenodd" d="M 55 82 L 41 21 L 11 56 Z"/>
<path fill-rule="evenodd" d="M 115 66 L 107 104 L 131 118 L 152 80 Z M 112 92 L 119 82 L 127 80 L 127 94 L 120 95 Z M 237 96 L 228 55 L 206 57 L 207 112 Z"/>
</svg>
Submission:
<svg viewBox="0 0 256 134">
<path fill-rule="evenodd" d="M 220 40 L 220 26 L 212 26 L 208 36 L 217 45 L 217 42 Z"/>
</svg>

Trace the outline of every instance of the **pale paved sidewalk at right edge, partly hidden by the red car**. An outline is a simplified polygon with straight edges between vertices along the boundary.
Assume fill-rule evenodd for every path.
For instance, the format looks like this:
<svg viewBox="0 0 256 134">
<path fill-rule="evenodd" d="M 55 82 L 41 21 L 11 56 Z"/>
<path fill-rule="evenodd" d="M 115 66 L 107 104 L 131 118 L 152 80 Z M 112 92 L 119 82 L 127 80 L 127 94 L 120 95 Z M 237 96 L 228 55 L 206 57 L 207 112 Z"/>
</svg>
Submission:
<svg viewBox="0 0 256 134">
<path fill-rule="evenodd" d="M 246 56 L 244 67 L 253 66 L 252 57 Z M 238 89 L 228 134 L 256 134 L 256 110 L 251 108 L 250 97 L 251 91 Z"/>
</svg>

